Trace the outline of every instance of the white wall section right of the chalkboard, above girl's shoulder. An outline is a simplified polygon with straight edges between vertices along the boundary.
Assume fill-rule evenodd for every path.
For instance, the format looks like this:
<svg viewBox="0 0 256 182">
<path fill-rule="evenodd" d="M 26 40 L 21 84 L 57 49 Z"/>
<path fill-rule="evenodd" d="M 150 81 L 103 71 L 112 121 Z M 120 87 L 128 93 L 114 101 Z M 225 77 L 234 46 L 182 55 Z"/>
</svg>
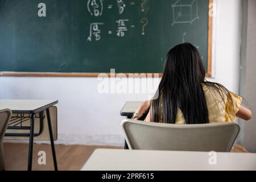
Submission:
<svg viewBox="0 0 256 182">
<path fill-rule="evenodd" d="M 213 57 L 214 81 L 238 93 L 240 79 L 241 0 L 216 0 Z"/>
</svg>

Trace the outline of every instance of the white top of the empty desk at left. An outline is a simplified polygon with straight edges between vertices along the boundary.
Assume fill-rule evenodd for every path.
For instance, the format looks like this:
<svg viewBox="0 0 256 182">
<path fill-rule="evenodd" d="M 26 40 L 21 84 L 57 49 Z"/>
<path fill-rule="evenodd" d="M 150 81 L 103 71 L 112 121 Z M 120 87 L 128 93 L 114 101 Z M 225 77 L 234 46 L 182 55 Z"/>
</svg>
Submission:
<svg viewBox="0 0 256 182">
<path fill-rule="evenodd" d="M 39 113 L 57 104 L 56 100 L 0 100 L 0 110 L 10 109 L 13 113 Z"/>
</svg>

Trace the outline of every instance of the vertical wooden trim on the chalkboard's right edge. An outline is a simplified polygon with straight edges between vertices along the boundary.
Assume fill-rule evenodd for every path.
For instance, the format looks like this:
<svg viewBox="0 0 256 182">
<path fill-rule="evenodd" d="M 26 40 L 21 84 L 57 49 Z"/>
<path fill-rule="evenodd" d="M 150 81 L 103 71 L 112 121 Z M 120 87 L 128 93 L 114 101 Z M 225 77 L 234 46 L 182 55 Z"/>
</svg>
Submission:
<svg viewBox="0 0 256 182">
<path fill-rule="evenodd" d="M 209 5 L 213 0 L 209 0 Z M 209 15 L 210 6 L 208 10 L 208 65 L 206 77 L 212 77 L 212 16 Z"/>
</svg>

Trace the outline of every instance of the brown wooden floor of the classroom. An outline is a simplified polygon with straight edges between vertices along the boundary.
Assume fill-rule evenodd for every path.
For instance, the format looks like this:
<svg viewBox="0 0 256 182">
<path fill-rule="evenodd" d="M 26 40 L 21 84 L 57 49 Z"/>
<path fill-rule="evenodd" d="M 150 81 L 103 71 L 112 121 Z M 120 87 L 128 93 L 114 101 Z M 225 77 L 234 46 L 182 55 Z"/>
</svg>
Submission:
<svg viewBox="0 0 256 182">
<path fill-rule="evenodd" d="M 26 143 L 4 143 L 6 170 L 24 171 L 27 170 L 28 144 Z M 110 146 L 65 146 L 55 145 L 57 163 L 59 170 L 73 171 L 80 170 L 89 156 L 96 148 L 122 148 Z M 46 152 L 46 165 L 39 165 L 39 151 Z M 234 147 L 232 152 L 247 152 L 240 145 Z M 34 144 L 32 170 L 53 170 L 51 146 L 49 144 Z"/>
</svg>

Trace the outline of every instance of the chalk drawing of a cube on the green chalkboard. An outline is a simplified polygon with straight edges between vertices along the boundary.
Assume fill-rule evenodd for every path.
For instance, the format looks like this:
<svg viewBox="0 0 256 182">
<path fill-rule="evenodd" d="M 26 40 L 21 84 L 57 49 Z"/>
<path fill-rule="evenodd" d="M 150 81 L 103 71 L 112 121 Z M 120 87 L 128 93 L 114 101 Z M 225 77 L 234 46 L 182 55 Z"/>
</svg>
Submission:
<svg viewBox="0 0 256 182">
<path fill-rule="evenodd" d="M 191 23 L 199 19 L 197 0 L 177 0 L 172 5 L 173 22 L 176 23 Z"/>
</svg>

